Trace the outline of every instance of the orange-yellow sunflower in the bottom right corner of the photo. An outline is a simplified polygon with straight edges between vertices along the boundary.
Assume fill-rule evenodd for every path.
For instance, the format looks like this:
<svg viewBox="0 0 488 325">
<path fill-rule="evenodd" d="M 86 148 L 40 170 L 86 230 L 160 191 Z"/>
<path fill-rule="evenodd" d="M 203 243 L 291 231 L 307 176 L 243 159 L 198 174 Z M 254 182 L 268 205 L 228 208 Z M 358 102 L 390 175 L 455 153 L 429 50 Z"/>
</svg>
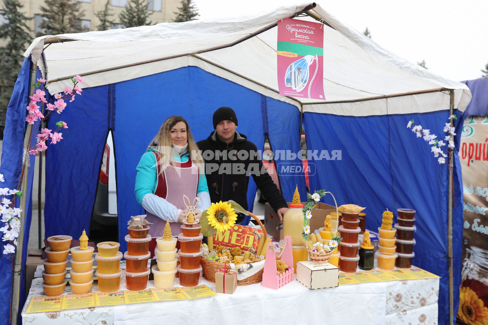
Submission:
<svg viewBox="0 0 488 325">
<path fill-rule="evenodd" d="M 483 300 L 469 287 L 460 291 L 457 317 L 468 325 L 488 325 L 488 308 Z"/>
</svg>

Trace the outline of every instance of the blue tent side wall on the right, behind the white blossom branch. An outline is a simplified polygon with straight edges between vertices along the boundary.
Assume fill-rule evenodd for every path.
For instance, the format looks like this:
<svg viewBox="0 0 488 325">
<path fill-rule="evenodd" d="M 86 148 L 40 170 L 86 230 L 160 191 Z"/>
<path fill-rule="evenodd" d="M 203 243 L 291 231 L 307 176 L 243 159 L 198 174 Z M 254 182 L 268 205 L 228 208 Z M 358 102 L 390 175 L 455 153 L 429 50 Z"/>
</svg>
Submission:
<svg viewBox="0 0 488 325">
<path fill-rule="evenodd" d="M 458 113 L 459 115 L 459 113 Z M 413 208 L 416 213 L 414 265 L 441 276 L 439 324 L 448 323 L 447 198 L 448 166 L 439 165 L 422 138 L 407 129 L 414 119 L 438 139 L 448 111 L 367 117 L 305 113 L 307 149 L 342 151 L 342 160 L 313 161 L 318 174 L 310 190 L 331 191 L 338 204 L 367 207 L 366 228 L 377 231 L 386 209 Z M 462 119 L 457 121 L 458 129 Z M 460 131 L 460 130 L 459 130 Z M 456 135 L 455 166 L 461 132 Z M 456 207 L 453 211 L 454 287 L 460 285 L 463 198 L 461 173 L 454 169 Z M 333 204 L 331 197 L 326 203 Z M 396 219 L 395 219 L 396 220 Z M 426 249 L 428 248 L 428 249 Z M 459 297 L 455 295 L 454 311 Z"/>
</svg>

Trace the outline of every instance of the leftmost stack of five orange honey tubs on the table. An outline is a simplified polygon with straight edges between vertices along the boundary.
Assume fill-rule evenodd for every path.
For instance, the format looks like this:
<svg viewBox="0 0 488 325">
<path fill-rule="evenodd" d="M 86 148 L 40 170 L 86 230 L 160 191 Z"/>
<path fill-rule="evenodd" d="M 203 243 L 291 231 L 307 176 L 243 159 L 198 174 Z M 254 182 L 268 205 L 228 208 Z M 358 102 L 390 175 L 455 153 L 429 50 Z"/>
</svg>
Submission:
<svg viewBox="0 0 488 325">
<path fill-rule="evenodd" d="M 46 296 L 59 296 L 66 287 L 64 276 L 66 275 L 67 257 L 69 246 L 73 237 L 58 235 L 47 238 L 49 248 L 46 249 L 47 259 L 42 261 L 42 287 Z"/>
</svg>

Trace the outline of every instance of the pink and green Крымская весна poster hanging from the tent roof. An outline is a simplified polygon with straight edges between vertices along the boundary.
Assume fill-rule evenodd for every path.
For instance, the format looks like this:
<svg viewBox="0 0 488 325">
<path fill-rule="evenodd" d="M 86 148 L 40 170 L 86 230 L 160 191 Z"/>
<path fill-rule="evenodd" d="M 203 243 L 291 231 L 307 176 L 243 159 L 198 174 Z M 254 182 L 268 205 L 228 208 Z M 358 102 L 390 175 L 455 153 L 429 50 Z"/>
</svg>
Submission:
<svg viewBox="0 0 488 325">
<path fill-rule="evenodd" d="M 322 23 L 279 20 L 277 61 L 280 95 L 325 100 Z"/>
</svg>

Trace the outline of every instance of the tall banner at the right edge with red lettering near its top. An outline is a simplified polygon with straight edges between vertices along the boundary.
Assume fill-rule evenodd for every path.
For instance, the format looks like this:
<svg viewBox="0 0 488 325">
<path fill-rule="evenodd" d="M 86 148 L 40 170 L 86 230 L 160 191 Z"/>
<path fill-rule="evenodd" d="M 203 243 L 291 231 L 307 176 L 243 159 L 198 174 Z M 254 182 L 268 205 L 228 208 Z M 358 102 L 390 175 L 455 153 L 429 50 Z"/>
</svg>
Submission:
<svg viewBox="0 0 488 325">
<path fill-rule="evenodd" d="M 460 305 L 475 303 L 481 310 L 488 307 L 488 279 L 483 271 L 488 265 L 488 116 L 464 120 L 459 160 L 464 192 Z M 470 323 L 466 308 L 460 312 L 458 319 L 474 324 Z"/>
</svg>

